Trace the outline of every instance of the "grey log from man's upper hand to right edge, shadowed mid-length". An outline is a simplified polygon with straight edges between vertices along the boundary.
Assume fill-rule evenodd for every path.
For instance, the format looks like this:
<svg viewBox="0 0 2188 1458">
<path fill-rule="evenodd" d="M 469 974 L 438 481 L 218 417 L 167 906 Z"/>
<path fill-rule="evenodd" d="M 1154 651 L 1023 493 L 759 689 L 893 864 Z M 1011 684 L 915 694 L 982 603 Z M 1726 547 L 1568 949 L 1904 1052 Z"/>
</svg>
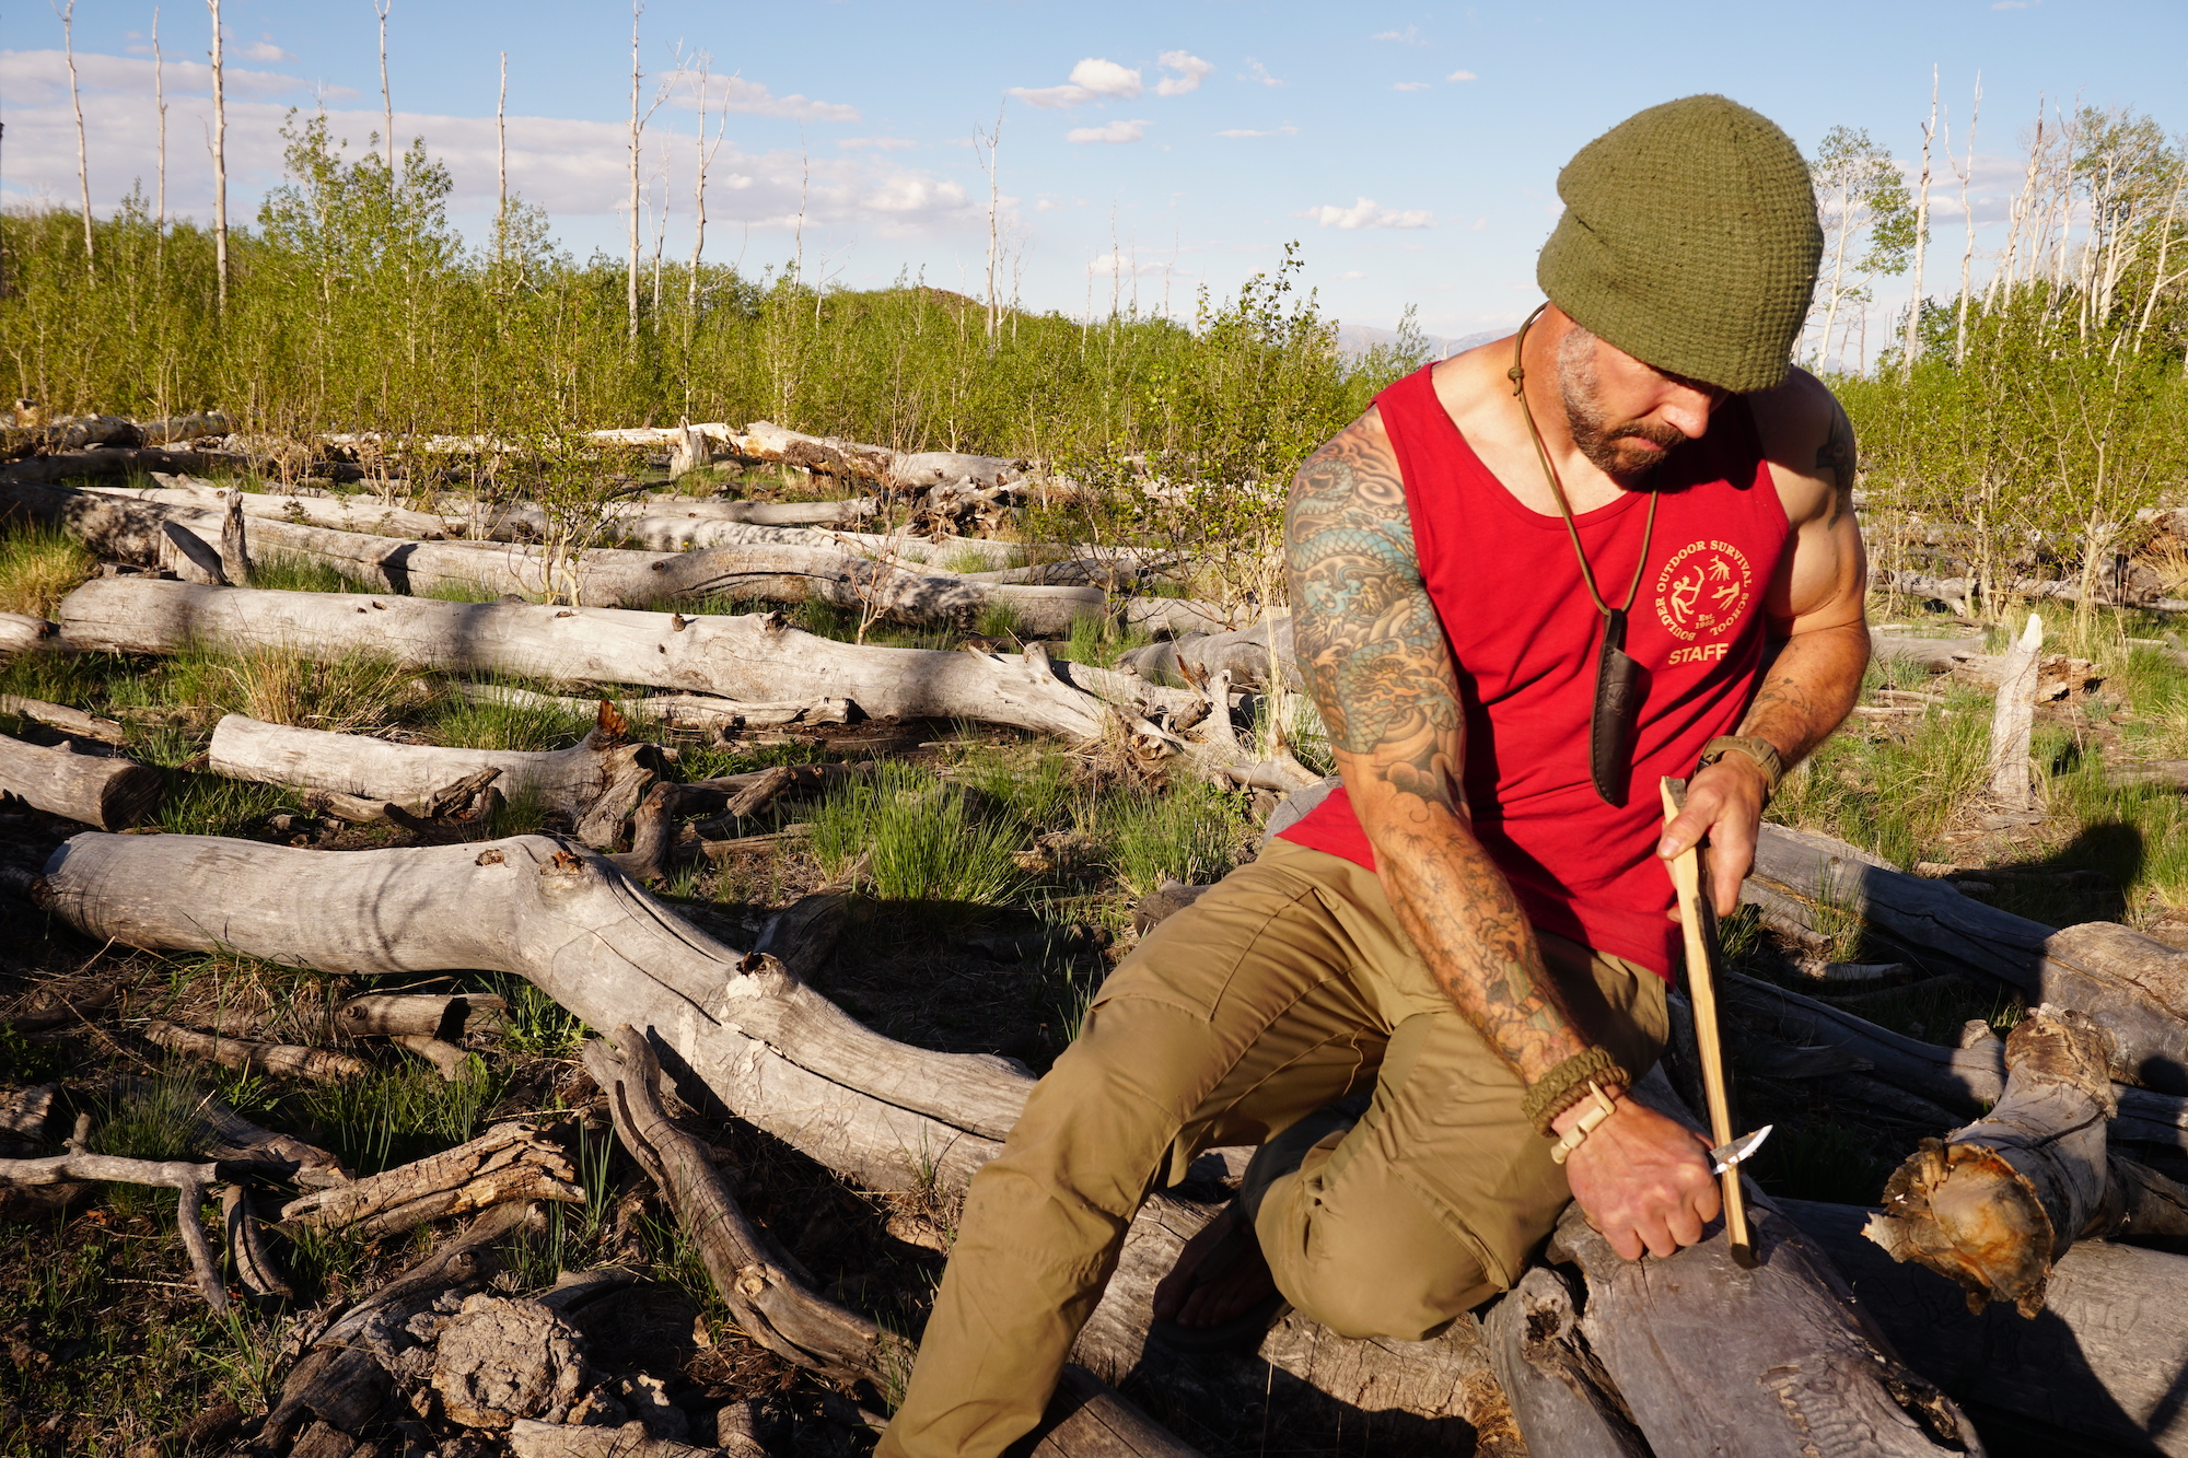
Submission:
<svg viewBox="0 0 2188 1458">
<path fill-rule="evenodd" d="M 1827 836 L 1764 825 L 1742 889 L 1766 915 L 1851 911 L 1930 970 L 1969 970 L 2030 1003 L 2074 1007 L 2111 1033 L 2114 1077 L 2188 1095 L 2188 952 L 2111 922 L 2052 930 L 1906 876 Z"/>
</svg>

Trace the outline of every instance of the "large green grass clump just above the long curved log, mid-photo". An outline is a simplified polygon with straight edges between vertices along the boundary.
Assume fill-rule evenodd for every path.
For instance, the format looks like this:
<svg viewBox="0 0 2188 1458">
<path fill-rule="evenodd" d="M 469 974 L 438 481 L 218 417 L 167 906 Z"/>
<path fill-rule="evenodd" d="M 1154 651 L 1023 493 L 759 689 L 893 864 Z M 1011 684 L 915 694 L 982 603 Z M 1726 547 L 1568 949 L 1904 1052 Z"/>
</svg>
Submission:
<svg viewBox="0 0 2188 1458">
<path fill-rule="evenodd" d="M 958 786 L 915 764 L 882 762 L 871 779 L 834 790 L 812 825 L 814 854 L 829 873 L 866 856 L 877 898 L 915 904 L 943 922 L 1013 904 L 1024 889 L 1017 817 L 982 814 Z"/>
</svg>

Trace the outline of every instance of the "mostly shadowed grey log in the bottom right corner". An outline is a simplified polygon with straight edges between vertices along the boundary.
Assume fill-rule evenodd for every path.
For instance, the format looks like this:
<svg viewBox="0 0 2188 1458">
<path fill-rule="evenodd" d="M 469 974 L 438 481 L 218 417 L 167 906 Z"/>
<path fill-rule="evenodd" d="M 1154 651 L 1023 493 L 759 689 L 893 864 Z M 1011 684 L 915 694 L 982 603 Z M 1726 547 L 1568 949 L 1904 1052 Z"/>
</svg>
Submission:
<svg viewBox="0 0 2188 1458">
<path fill-rule="evenodd" d="M 2050 1272 L 2033 1320 L 1919 1265 L 1899 1265 L 1862 1239 L 1873 1217 L 1844 1204 L 1781 1202 L 1847 1274 L 1862 1311 L 1925 1377 L 2000 1416 L 2020 1451 L 2168 1454 L 2188 1458 L 2188 1257 L 2087 1241 Z M 2087 1440 L 2076 1443 L 2074 1436 Z"/>
</svg>

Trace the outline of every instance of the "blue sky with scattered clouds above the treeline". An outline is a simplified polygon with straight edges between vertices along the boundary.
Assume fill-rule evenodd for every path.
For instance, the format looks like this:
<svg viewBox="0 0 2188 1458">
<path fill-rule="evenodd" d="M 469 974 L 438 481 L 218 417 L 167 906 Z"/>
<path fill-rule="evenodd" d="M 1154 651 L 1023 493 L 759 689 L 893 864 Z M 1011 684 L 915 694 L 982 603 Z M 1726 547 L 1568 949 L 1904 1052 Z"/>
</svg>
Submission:
<svg viewBox="0 0 2188 1458">
<path fill-rule="evenodd" d="M 149 0 L 77 0 L 98 210 L 133 177 L 153 190 L 151 20 Z M 230 206 L 249 219 L 278 182 L 276 129 L 289 107 L 326 105 L 352 144 L 379 127 L 376 20 L 370 0 L 223 0 L 223 22 Z M 9 204 L 77 199 L 59 42 L 44 4 L 0 13 Z M 711 53 L 715 96 L 731 107 L 709 171 L 709 258 L 742 256 L 753 269 L 788 261 L 803 193 L 807 276 L 875 287 L 923 271 L 930 285 L 980 293 L 987 180 L 971 138 L 1004 105 L 1004 291 L 1015 274 L 1024 304 L 1103 311 L 1116 291 L 1186 313 L 1195 289 L 1227 293 L 1297 239 L 1330 313 L 1387 326 L 1416 304 L 1422 326 L 1444 337 L 1510 324 L 1532 306 L 1558 166 L 1672 96 L 1731 94 L 1803 149 L 1831 125 L 1866 127 L 1912 160 L 1932 63 L 1956 151 L 1980 70 L 1978 250 L 2002 239 L 1998 219 L 2020 177 L 2015 134 L 2039 92 L 2188 127 L 2181 0 L 652 0 L 641 18 L 648 101 L 676 72 L 678 42 L 687 59 Z M 201 0 L 164 2 L 160 44 L 171 208 L 206 217 Z M 477 230 L 494 197 L 503 50 L 512 186 L 549 210 L 571 252 L 621 254 L 628 9 L 392 0 L 396 134 L 422 134 L 451 164 L 457 221 Z M 691 236 L 689 72 L 685 81 L 645 134 L 648 230 L 665 193 L 670 256 L 685 256 Z M 1934 215 L 1934 247 L 1956 269 L 1958 199 L 1941 197 Z"/>
</svg>

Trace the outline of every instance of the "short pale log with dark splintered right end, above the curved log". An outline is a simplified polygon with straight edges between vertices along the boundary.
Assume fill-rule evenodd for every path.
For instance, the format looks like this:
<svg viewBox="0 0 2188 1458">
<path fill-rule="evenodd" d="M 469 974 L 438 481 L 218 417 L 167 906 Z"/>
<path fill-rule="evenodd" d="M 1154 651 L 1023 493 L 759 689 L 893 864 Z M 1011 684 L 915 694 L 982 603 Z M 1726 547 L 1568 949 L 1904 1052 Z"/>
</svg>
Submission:
<svg viewBox="0 0 2188 1458">
<path fill-rule="evenodd" d="M 648 779 L 661 771 L 661 753 L 652 744 L 613 744 L 597 733 L 573 749 L 551 751 L 442 749 L 394 744 L 365 733 L 291 729 L 241 714 L 228 714 L 214 725 L 206 753 L 206 768 L 230 779 L 335 790 L 418 812 L 446 786 L 494 768 L 501 771 L 494 788 L 505 797 L 532 795 L 547 810 L 573 819 L 591 810 L 628 771 L 637 768 Z"/>
</svg>

